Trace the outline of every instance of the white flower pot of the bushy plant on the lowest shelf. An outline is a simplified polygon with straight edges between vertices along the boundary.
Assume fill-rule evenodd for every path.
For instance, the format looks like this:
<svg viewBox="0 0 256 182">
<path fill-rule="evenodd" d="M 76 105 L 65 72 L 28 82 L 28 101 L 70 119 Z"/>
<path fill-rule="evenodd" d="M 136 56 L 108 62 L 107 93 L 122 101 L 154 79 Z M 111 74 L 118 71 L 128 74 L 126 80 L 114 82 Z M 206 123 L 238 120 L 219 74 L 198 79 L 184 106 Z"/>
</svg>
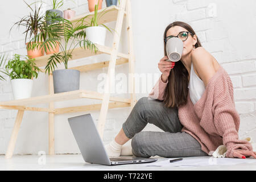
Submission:
<svg viewBox="0 0 256 182">
<path fill-rule="evenodd" d="M 11 88 L 13 89 L 14 100 L 22 98 L 30 98 L 32 93 L 33 80 L 31 79 L 13 79 L 11 80 Z"/>
</svg>

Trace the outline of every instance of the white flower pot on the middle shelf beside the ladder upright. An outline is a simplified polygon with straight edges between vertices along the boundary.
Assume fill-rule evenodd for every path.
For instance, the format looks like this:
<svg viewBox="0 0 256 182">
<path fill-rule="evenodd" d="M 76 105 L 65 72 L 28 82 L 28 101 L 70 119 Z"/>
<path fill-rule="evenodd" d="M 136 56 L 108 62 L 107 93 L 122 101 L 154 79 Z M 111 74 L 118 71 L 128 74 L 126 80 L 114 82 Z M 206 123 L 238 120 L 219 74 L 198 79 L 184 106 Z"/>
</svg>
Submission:
<svg viewBox="0 0 256 182">
<path fill-rule="evenodd" d="M 100 44 L 105 46 L 105 38 L 106 38 L 106 28 L 95 26 L 85 28 L 86 39 L 90 40 L 90 42 Z"/>
</svg>

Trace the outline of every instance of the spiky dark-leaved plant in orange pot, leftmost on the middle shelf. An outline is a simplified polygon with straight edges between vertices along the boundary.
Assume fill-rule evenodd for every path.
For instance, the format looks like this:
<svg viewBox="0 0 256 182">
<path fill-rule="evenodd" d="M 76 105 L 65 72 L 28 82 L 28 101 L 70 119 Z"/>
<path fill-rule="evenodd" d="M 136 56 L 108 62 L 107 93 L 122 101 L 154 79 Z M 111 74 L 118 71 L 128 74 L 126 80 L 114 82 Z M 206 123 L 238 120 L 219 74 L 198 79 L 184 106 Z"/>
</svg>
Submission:
<svg viewBox="0 0 256 182">
<path fill-rule="evenodd" d="M 29 39 L 30 39 L 33 35 L 36 36 L 38 34 L 38 31 L 39 31 L 40 27 L 43 24 L 44 15 L 40 14 L 42 4 L 39 6 L 38 9 L 36 8 L 36 5 L 35 5 L 34 10 L 27 3 L 26 3 L 26 5 L 31 9 L 32 13 L 30 13 L 30 15 L 24 16 L 18 22 L 14 23 L 14 25 L 10 28 L 10 31 L 12 30 L 12 28 L 14 26 L 17 26 L 17 27 L 23 26 L 23 27 L 26 28 L 26 30 L 23 32 L 23 34 L 26 34 L 25 44 L 26 44 L 26 47 L 27 47 L 27 56 L 30 59 L 32 59 L 34 57 L 39 57 L 39 56 L 44 55 L 44 50 L 43 49 L 39 49 L 38 47 L 31 47 L 30 45 L 28 45 L 28 44 L 30 44 L 30 42 L 27 42 L 28 36 L 29 36 Z M 40 44 L 40 43 L 41 42 L 39 40 L 38 44 Z"/>
</svg>

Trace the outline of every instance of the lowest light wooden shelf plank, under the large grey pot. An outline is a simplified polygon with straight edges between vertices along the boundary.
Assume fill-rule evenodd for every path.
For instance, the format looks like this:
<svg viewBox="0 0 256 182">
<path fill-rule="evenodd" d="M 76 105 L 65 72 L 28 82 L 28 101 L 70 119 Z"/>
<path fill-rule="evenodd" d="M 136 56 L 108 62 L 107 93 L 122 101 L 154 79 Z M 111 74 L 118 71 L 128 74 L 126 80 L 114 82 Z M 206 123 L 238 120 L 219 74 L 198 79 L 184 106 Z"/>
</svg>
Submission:
<svg viewBox="0 0 256 182">
<path fill-rule="evenodd" d="M 0 107 L 46 104 L 49 102 L 75 100 L 78 98 L 91 98 L 96 100 L 102 100 L 103 94 L 94 92 L 94 91 L 89 91 L 89 90 L 75 90 L 71 92 L 64 92 L 64 93 L 50 94 L 46 96 L 38 96 L 38 97 L 31 97 L 31 98 L 25 98 L 20 100 L 0 102 Z M 130 104 L 130 99 L 127 99 L 127 98 L 110 97 L 110 101 L 123 102 L 123 103 Z"/>
</svg>

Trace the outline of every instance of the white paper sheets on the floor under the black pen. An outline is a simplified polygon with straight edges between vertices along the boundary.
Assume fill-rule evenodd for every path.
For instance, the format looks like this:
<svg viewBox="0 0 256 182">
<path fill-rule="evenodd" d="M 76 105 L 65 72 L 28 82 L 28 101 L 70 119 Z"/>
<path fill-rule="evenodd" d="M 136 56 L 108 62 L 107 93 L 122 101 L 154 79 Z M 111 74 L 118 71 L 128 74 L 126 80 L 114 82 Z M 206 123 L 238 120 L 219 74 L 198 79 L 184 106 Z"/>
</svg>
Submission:
<svg viewBox="0 0 256 182">
<path fill-rule="evenodd" d="M 178 158 L 170 158 L 178 159 Z M 202 159 L 186 159 L 170 163 L 170 159 L 159 160 L 154 163 L 144 163 L 142 166 L 170 166 L 170 167 L 198 167 L 210 165 L 235 165 L 240 163 L 256 163 L 256 159 L 238 159 L 238 158 L 202 158 Z"/>
</svg>

